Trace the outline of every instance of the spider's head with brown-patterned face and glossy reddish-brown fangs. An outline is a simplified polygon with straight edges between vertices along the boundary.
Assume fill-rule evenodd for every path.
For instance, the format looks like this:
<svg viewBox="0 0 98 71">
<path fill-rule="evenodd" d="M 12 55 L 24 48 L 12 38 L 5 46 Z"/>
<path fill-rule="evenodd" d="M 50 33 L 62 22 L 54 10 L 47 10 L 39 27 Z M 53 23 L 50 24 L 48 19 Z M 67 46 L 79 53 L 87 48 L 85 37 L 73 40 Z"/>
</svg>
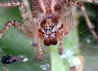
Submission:
<svg viewBox="0 0 98 71">
<path fill-rule="evenodd" d="M 46 46 L 57 44 L 57 25 L 58 19 L 45 19 L 41 22 L 43 41 Z"/>
</svg>

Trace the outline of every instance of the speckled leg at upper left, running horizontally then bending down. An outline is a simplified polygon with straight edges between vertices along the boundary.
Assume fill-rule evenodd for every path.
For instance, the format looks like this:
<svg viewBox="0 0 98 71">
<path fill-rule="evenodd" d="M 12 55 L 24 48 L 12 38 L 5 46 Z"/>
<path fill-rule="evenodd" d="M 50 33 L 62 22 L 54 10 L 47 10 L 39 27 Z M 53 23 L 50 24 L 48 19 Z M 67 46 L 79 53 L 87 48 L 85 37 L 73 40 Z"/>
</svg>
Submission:
<svg viewBox="0 0 98 71">
<path fill-rule="evenodd" d="M 31 25 L 31 22 L 30 22 L 29 17 L 28 17 L 29 14 L 26 11 L 24 5 L 22 3 L 20 3 L 19 1 L 10 1 L 10 2 L 0 3 L 0 7 L 8 7 L 8 6 L 18 6 L 20 13 L 21 13 L 21 16 L 23 18 L 24 25 L 27 28 L 29 28 L 30 30 L 32 30 L 32 25 Z"/>
</svg>

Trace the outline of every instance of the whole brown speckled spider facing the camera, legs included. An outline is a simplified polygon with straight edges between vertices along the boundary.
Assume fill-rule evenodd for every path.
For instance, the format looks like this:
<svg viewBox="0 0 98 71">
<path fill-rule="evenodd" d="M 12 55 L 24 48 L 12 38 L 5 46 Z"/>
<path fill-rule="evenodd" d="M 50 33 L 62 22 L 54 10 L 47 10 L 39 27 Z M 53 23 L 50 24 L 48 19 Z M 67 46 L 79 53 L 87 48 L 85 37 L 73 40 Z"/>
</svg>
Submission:
<svg viewBox="0 0 98 71">
<path fill-rule="evenodd" d="M 27 0 L 23 0 L 27 1 Z M 25 35 L 34 39 L 34 46 L 38 49 L 38 59 L 42 60 L 43 51 L 41 41 L 46 46 L 58 43 L 58 52 L 62 54 L 62 39 L 73 28 L 73 7 L 77 5 L 84 13 L 87 25 L 98 40 L 91 25 L 85 7 L 81 2 L 98 4 L 97 0 L 31 0 L 32 12 L 19 1 L 0 2 L 0 7 L 18 6 L 24 24 L 12 20 L 6 23 L 0 31 L 0 38 L 13 25 Z M 36 58 L 36 57 L 35 57 Z"/>
</svg>

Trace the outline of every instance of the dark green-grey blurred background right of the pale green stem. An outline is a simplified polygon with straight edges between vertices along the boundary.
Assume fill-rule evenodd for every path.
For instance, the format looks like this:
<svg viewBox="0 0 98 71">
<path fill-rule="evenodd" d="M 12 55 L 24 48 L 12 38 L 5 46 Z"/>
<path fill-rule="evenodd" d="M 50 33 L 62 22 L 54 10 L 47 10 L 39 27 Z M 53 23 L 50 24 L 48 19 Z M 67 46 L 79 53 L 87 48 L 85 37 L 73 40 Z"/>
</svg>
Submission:
<svg viewBox="0 0 98 71">
<path fill-rule="evenodd" d="M 87 14 L 94 26 L 95 32 L 98 34 L 98 4 L 84 3 Z M 84 16 L 81 14 L 81 10 L 78 8 L 79 12 L 79 43 L 80 52 L 84 56 L 85 65 L 84 71 L 97 71 L 98 67 L 98 41 L 95 40 L 93 35 L 90 33 Z"/>
</svg>

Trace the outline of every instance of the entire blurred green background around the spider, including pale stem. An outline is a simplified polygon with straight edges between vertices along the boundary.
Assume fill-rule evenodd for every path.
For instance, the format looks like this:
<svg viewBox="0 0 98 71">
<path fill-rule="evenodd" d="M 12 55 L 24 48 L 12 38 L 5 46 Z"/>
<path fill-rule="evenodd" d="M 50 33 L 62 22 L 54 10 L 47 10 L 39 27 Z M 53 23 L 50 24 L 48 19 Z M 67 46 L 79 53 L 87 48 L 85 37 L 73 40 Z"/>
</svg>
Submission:
<svg viewBox="0 0 98 71">
<path fill-rule="evenodd" d="M 92 24 L 95 26 L 95 31 L 98 33 L 98 6 L 90 3 L 84 3 L 84 5 Z M 3 71 L 3 67 L 8 68 L 9 71 L 69 71 L 69 67 L 74 65 L 74 60 L 76 60 L 76 63 L 78 62 L 77 58 L 80 54 L 85 59 L 83 71 L 97 71 L 98 42 L 90 33 L 82 11 L 77 8 L 77 12 L 79 25 L 64 38 L 65 55 L 58 55 L 57 45 L 50 46 L 50 48 L 43 46 L 44 59 L 41 62 L 34 60 L 33 46 L 31 45 L 33 39 L 28 38 L 12 26 L 0 39 L 0 60 L 3 56 L 9 54 L 19 57 L 21 62 L 6 65 L 0 62 L 0 71 Z M 23 23 L 18 7 L 0 8 L 0 29 L 10 20 Z M 78 54 L 79 52 L 80 54 Z M 67 58 L 66 54 L 70 56 Z"/>
</svg>

